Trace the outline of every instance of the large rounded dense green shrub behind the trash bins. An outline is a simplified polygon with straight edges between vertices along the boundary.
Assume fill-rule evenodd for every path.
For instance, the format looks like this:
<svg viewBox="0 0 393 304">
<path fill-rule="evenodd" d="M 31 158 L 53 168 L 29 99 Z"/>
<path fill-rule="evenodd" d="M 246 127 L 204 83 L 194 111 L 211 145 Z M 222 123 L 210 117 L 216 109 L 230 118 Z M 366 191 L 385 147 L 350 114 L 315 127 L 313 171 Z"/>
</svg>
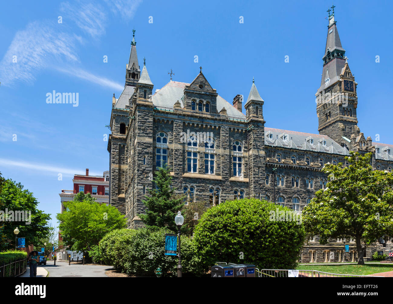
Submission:
<svg viewBox="0 0 393 304">
<path fill-rule="evenodd" d="M 301 221 L 279 221 L 277 210 L 294 214 L 286 207 L 253 198 L 226 201 L 208 209 L 194 233 L 198 258 L 205 269 L 215 262 L 295 269 L 304 228 Z"/>
</svg>

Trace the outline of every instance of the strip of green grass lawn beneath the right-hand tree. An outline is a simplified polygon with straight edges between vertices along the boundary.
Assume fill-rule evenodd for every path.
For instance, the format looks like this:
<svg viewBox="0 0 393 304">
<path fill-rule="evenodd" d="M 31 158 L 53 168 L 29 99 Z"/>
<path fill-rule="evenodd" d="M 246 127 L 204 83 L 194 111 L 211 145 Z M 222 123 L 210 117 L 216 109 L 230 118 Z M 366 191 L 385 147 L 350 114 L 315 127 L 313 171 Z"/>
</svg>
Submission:
<svg viewBox="0 0 393 304">
<path fill-rule="evenodd" d="M 393 271 L 393 264 L 372 264 L 365 265 L 349 264 L 349 265 L 299 265 L 301 270 L 318 270 L 329 273 L 339 273 L 346 275 L 371 275 L 373 273 Z"/>
</svg>

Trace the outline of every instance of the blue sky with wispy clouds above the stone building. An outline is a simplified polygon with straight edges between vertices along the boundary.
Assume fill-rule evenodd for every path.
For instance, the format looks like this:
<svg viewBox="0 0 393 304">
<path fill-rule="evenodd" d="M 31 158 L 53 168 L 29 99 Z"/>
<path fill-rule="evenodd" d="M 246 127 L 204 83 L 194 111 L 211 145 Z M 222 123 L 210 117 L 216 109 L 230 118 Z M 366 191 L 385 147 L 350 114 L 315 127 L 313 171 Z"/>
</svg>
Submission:
<svg viewBox="0 0 393 304">
<path fill-rule="evenodd" d="M 202 66 L 213 88 L 231 103 L 237 94 L 248 96 L 255 77 L 266 126 L 318 133 L 314 94 L 331 5 L 204 0 L 2 4 L 0 171 L 33 192 L 56 224 L 59 192 L 72 189 L 73 174 L 84 174 L 85 168 L 97 175 L 108 170 L 105 125 L 112 95 L 118 98 L 124 87 L 133 27 L 140 66 L 146 57 L 154 89 L 169 81 L 171 68 L 174 81 L 191 82 Z M 387 128 L 391 4 L 337 3 L 335 20 L 358 82 L 360 131 L 373 141 L 379 134 L 380 142 L 393 143 Z M 108 62 L 103 62 L 105 55 Z M 53 90 L 79 93 L 79 105 L 47 104 L 46 93 Z"/>
</svg>

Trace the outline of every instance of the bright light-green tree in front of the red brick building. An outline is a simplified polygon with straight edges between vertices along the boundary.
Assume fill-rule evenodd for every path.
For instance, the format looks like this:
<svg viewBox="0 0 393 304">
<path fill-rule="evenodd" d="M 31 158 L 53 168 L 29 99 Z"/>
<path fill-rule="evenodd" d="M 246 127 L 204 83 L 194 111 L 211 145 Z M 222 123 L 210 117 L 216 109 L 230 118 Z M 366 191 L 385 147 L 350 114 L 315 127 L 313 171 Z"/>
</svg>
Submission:
<svg viewBox="0 0 393 304">
<path fill-rule="evenodd" d="M 113 229 L 125 228 L 126 220 L 118 209 L 91 200 L 89 194 L 79 201 L 64 202 L 63 213 L 56 215 L 64 245 L 73 251 L 90 251 Z"/>
</svg>

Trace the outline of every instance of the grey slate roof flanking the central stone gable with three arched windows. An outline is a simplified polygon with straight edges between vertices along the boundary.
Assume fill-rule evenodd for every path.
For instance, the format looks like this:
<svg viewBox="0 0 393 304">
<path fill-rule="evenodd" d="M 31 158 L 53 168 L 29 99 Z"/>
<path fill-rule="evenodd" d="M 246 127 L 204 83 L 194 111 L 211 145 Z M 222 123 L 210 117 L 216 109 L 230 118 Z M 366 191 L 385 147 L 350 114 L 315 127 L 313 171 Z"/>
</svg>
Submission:
<svg viewBox="0 0 393 304">
<path fill-rule="evenodd" d="M 179 101 L 184 108 L 184 87 L 189 83 L 170 81 L 162 89 L 156 91 L 152 96 L 152 101 L 156 107 L 173 108 L 176 101 Z M 235 109 L 232 104 L 228 103 L 220 95 L 217 96 L 217 111 L 220 112 L 222 108 L 226 109 L 228 116 L 233 116 L 239 119 L 246 119 L 246 115 Z"/>
</svg>

